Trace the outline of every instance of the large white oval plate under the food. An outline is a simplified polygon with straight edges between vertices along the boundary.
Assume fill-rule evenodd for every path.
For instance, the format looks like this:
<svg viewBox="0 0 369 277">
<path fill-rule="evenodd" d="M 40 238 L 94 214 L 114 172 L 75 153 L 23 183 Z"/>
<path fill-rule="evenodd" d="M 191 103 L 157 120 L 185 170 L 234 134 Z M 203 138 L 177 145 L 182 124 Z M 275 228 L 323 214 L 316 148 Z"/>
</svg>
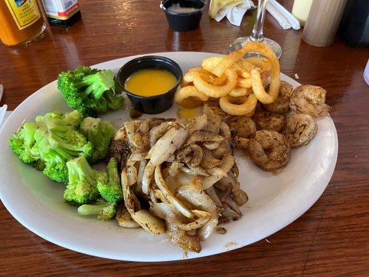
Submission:
<svg viewBox="0 0 369 277">
<path fill-rule="evenodd" d="M 156 53 L 176 61 L 186 72 L 199 66 L 201 60 L 217 55 L 197 52 Z M 100 69 L 118 71 L 134 57 L 125 57 L 96 65 Z M 286 75 L 296 87 L 298 82 Z M 174 117 L 178 107 L 158 117 Z M 8 148 L 8 139 L 22 123 L 48 111 L 70 111 L 58 93 L 56 81 L 51 82 L 12 112 L 0 132 L 0 197 L 8 211 L 27 229 L 61 247 L 81 253 L 116 260 L 169 261 L 183 259 L 183 251 L 168 242 L 165 235 L 154 236 L 143 229 L 123 229 L 115 220 L 100 222 L 94 217 L 78 215 L 73 206 L 64 204 L 64 184 L 57 184 L 42 172 L 22 163 Z M 119 127 L 128 119 L 128 111 L 115 111 L 102 116 Z M 188 253 L 199 258 L 222 253 L 275 233 L 305 213 L 321 196 L 336 165 L 338 141 L 336 128 L 329 116 L 317 119 L 318 134 L 309 145 L 294 149 L 291 161 L 278 175 L 264 172 L 250 159 L 237 157 L 240 183 L 249 195 L 241 207 L 242 218 L 224 224 L 224 235 L 213 233 L 202 242 L 200 253 Z"/>
</svg>

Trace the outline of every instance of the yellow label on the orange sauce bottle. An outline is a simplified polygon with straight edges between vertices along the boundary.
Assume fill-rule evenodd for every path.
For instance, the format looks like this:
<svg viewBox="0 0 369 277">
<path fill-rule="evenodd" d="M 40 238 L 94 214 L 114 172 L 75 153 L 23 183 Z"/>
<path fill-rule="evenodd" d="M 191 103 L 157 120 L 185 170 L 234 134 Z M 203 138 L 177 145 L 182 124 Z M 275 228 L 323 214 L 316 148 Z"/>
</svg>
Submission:
<svg viewBox="0 0 369 277">
<path fill-rule="evenodd" d="M 5 0 L 5 2 L 19 30 L 31 26 L 41 17 L 36 0 Z"/>
</svg>

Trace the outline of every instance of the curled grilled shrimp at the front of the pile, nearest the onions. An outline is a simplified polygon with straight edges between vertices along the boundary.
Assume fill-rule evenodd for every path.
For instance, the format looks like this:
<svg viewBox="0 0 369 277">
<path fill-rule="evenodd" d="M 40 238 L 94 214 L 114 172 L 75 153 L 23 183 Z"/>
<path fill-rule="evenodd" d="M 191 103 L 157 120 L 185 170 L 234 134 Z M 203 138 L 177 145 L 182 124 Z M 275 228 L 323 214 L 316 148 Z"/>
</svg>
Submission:
<svg viewBox="0 0 369 277">
<path fill-rule="evenodd" d="M 250 139 L 249 154 L 256 166 L 271 171 L 283 168 L 290 157 L 287 138 L 275 131 L 256 131 Z"/>
</svg>

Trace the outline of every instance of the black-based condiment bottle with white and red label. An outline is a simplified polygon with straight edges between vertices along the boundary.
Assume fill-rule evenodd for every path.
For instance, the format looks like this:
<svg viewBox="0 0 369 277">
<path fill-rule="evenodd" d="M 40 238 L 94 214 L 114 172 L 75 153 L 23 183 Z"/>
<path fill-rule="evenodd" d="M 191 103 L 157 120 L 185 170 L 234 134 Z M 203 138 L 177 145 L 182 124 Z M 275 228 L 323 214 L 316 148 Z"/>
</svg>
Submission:
<svg viewBox="0 0 369 277">
<path fill-rule="evenodd" d="M 78 0 L 42 0 L 48 23 L 68 28 L 81 18 Z"/>
</svg>

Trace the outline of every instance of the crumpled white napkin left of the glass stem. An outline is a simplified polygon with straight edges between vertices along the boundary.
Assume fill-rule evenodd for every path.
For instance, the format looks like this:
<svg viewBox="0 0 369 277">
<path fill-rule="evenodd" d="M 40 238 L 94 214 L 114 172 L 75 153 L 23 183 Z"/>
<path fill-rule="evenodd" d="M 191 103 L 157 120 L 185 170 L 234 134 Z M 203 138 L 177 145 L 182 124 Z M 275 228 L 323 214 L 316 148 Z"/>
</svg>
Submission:
<svg viewBox="0 0 369 277">
<path fill-rule="evenodd" d="M 253 8 L 255 6 L 251 0 L 240 0 L 235 3 L 229 3 L 217 12 L 214 19 L 219 22 L 226 17 L 231 24 L 240 26 L 242 17 L 244 17 L 246 11 Z"/>
</svg>

